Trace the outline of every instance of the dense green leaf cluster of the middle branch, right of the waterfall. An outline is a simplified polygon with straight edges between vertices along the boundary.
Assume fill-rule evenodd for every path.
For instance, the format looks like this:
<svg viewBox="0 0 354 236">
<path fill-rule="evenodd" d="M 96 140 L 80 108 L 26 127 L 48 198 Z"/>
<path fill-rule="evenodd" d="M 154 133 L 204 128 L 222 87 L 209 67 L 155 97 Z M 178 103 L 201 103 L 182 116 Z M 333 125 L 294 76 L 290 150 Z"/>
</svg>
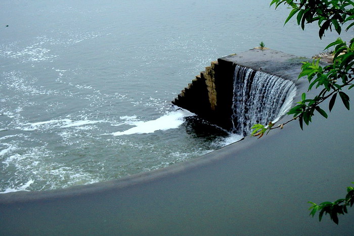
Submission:
<svg viewBox="0 0 354 236">
<path fill-rule="evenodd" d="M 318 105 L 331 98 L 328 107 L 331 112 L 338 93 L 345 108 L 350 109 L 350 99 L 342 89 L 346 86 L 349 86 L 348 89 L 354 87 L 351 83 L 354 79 L 352 67 L 354 64 L 354 42 L 351 42 L 350 45 L 347 46 L 346 42 L 338 38 L 335 42 L 330 43 L 325 50 L 333 45 L 337 45 L 334 50 L 333 64 L 322 67 L 319 64 L 320 59 L 317 59 L 312 63 L 303 62 L 301 67 L 302 71 L 299 74 L 299 78 L 307 76 L 309 82 L 308 91 L 314 86 L 316 88 L 320 86 L 324 87 L 314 99 L 306 99 L 306 93 L 302 93 L 302 101 L 298 102 L 297 104 L 299 105 L 293 107 L 288 112 L 289 115 L 293 114 L 294 117 L 299 118 L 301 129 L 303 129 L 303 122 L 305 122 L 306 125 L 312 122 L 312 116 L 314 116 L 315 110 L 323 117 L 327 118 L 327 113 Z M 348 61 L 350 62 L 349 66 L 347 64 Z"/>
</svg>

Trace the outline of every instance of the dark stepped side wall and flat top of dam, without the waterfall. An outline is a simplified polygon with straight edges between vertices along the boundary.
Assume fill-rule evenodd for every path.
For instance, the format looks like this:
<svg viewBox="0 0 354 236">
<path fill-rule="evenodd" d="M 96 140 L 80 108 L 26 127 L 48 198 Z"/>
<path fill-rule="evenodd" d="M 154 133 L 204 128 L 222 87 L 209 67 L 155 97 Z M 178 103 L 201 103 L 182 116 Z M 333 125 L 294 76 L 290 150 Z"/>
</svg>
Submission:
<svg viewBox="0 0 354 236">
<path fill-rule="evenodd" d="M 306 88 L 303 80 L 297 80 L 301 71 L 301 62 L 305 60 L 311 59 L 271 49 L 251 49 L 237 55 L 222 57 L 217 59 L 217 62 L 212 62 L 210 67 L 206 67 L 205 71 L 201 72 L 201 76 L 197 76 L 199 82 L 197 86 L 193 81 L 188 89 L 189 93 L 185 92 L 186 89 L 183 90 L 172 103 L 230 130 L 233 113 L 233 77 L 236 65 L 293 81 L 297 88 L 297 97 L 294 101 L 298 101 L 298 96 Z M 206 94 L 208 99 L 201 100 L 201 95 L 205 98 Z"/>
</svg>

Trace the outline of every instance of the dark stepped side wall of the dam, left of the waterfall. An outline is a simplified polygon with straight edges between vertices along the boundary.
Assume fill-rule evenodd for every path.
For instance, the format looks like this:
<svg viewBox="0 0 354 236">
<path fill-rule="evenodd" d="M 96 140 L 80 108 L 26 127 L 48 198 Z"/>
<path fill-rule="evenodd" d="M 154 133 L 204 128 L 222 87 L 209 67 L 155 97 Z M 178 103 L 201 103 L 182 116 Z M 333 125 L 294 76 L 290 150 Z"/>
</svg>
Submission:
<svg viewBox="0 0 354 236">
<path fill-rule="evenodd" d="M 232 126 L 233 75 L 235 66 L 223 59 L 211 62 L 178 95 L 173 105 L 193 112 L 220 127 Z"/>
</svg>

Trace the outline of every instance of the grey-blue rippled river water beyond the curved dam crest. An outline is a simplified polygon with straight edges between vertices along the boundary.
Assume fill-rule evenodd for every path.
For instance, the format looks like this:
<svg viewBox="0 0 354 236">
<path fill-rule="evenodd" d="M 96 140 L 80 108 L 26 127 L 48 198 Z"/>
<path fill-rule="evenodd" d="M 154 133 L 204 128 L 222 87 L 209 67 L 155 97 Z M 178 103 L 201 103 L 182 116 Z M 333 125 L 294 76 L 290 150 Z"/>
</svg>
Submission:
<svg viewBox="0 0 354 236">
<path fill-rule="evenodd" d="M 311 57 L 336 37 L 283 27 L 289 11 L 269 2 L 2 1 L 0 192 L 115 179 L 240 138 L 170 101 L 260 41 Z"/>
</svg>

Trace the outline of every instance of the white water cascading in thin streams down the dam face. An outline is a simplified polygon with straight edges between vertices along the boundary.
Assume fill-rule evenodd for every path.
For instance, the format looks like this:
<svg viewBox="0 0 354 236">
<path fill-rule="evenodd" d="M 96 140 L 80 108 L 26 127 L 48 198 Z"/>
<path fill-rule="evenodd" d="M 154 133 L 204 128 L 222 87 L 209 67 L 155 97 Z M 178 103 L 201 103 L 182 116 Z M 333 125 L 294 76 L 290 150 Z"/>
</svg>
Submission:
<svg viewBox="0 0 354 236">
<path fill-rule="evenodd" d="M 291 108 L 295 95 L 292 81 L 236 65 L 232 132 L 246 136 L 253 124 L 276 122 Z"/>
</svg>

